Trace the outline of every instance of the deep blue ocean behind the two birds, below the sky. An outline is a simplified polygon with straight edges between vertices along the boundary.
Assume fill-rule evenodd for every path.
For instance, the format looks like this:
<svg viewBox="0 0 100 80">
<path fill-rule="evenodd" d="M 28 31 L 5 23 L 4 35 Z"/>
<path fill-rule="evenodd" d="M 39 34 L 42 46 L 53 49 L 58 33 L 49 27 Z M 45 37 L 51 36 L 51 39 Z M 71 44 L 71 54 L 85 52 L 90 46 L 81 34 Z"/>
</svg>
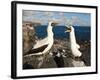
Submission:
<svg viewBox="0 0 100 80">
<path fill-rule="evenodd" d="M 77 40 L 90 40 L 91 39 L 91 27 L 90 26 L 73 26 L 75 28 L 75 36 Z M 65 26 L 56 26 L 53 28 L 55 39 L 68 39 L 69 33 L 65 33 Z M 35 27 L 36 36 L 41 39 L 47 36 L 47 26 Z"/>
</svg>

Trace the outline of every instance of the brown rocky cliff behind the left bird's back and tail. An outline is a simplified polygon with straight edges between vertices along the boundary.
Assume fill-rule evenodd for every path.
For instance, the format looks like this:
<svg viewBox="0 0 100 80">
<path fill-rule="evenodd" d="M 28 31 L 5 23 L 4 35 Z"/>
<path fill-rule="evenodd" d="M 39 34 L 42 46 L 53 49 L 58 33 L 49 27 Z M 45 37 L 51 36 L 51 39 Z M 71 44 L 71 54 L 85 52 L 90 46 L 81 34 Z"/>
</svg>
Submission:
<svg viewBox="0 0 100 80">
<path fill-rule="evenodd" d="M 23 55 L 32 49 L 35 44 L 36 36 L 35 29 L 31 24 L 23 24 Z"/>
</svg>

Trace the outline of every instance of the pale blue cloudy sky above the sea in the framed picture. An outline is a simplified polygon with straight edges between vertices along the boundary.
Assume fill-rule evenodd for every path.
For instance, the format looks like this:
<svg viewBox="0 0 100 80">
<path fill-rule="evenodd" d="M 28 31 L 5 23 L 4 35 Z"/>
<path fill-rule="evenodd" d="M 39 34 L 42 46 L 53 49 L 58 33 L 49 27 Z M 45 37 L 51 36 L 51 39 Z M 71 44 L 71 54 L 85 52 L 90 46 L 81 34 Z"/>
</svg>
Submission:
<svg viewBox="0 0 100 80">
<path fill-rule="evenodd" d="M 57 21 L 59 25 L 91 26 L 90 13 L 23 10 L 23 21 L 36 21 L 42 25 Z"/>
</svg>

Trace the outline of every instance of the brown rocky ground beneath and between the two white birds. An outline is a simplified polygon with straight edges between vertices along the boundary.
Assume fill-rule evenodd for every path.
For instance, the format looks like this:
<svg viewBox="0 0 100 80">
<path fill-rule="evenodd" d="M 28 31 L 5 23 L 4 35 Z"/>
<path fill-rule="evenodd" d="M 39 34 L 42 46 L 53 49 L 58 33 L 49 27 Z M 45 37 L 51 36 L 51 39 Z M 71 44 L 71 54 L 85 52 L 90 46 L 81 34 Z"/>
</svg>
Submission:
<svg viewBox="0 0 100 80">
<path fill-rule="evenodd" d="M 71 51 L 69 48 L 69 41 L 68 40 L 55 40 L 54 45 L 51 49 L 51 52 L 57 52 L 57 50 L 65 50 L 64 52 L 64 57 L 62 57 L 63 61 L 58 60 L 58 63 L 63 63 L 61 67 L 83 67 L 83 66 L 90 66 L 90 42 L 89 41 L 83 41 L 83 42 L 78 42 L 80 45 L 80 51 L 82 52 L 82 56 L 80 59 L 74 59 L 73 56 L 71 55 Z M 38 68 L 37 65 L 39 63 L 39 58 L 41 56 L 29 56 L 23 58 L 23 67 L 26 69 L 26 65 L 32 69 Z M 25 68 L 26 67 L 26 68 Z M 43 64 L 40 68 L 57 68 L 57 63 L 55 61 L 55 54 L 52 56 L 48 54 L 46 58 L 43 61 Z"/>
</svg>

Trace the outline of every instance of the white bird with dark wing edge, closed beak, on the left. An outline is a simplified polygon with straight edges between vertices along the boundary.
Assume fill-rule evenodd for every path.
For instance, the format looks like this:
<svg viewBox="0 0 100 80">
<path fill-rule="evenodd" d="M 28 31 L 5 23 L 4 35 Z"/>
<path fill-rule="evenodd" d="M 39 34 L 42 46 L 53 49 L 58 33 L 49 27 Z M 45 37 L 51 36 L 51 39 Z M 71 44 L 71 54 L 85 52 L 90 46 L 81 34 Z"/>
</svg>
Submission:
<svg viewBox="0 0 100 80">
<path fill-rule="evenodd" d="M 43 55 L 46 54 L 50 51 L 52 48 L 54 39 L 53 39 L 53 31 L 52 31 L 52 26 L 53 22 L 50 21 L 47 27 L 47 37 L 38 40 L 35 45 L 33 45 L 32 50 L 28 52 L 28 55 L 26 56 L 31 56 L 31 55 Z"/>
</svg>

